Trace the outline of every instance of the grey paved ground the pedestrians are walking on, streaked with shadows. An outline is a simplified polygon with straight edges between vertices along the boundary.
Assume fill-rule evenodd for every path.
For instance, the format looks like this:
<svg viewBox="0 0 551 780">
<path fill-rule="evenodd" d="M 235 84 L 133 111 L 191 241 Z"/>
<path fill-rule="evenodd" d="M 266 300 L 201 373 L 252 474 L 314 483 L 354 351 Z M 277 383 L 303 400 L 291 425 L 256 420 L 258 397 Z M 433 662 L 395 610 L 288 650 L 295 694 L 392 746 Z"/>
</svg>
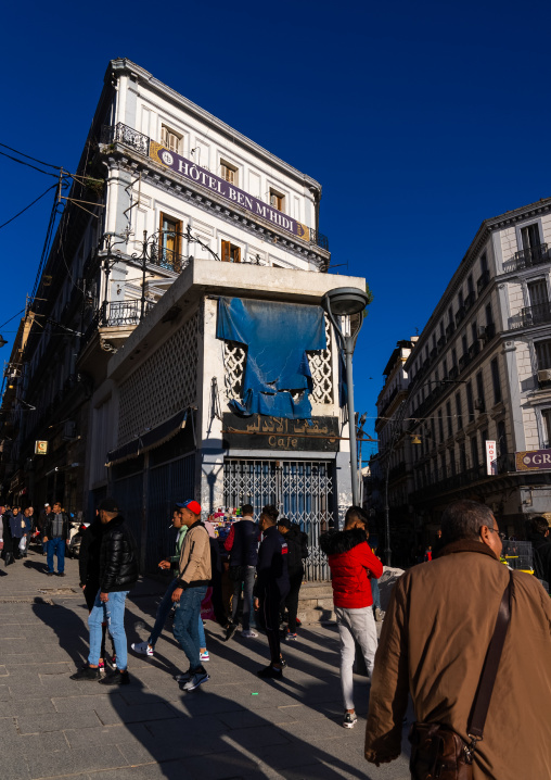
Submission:
<svg viewBox="0 0 551 780">
<path fill-rule="evenodd" d="M 67 561 L 65 578 L 47 577 L 46 558 L 34 552 L 0 564 L 2 780 L 409 780 L 403 754 L 380 769 L 363 759 L 364 678 L 356 678 L 358 725 L 342 727 L 331 627 L 304 628 L 285 646 L 282 681 L 255 675 L 268 659 L 264 636 L 225 643 L 207 622 L 210 680 L 192 693 L 172 679 L 187 663 L 170 629 L 154 658 L 130 652 L 130 685 L 74 682 L 88 654 L 77 568 Z M 145 579 L 131 593 L 129 643 L 148 638 L 162 590 Z"/>
</svg>

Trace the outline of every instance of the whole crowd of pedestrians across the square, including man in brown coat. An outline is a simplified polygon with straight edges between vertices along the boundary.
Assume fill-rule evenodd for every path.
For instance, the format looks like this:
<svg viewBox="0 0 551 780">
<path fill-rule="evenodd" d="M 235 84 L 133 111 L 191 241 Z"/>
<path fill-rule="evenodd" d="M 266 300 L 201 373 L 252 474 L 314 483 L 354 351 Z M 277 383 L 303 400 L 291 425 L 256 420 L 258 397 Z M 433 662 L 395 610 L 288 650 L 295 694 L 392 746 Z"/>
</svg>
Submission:
<svg viewBox="0 0 551 780">
<path fill-rule="evenodd" d="M 254 629 L 262 627 L 269 663 L 257 675 L 265 680 L 281 680 L 286 667 L 280 641 L 285 608 L 289 624 L 283 636 L 289 642 L 297 639 L 307 538 L 298 526 L 280 518 L 273 505 L 262 508 L 258 524 L 251 504 L 241 508 L 241 519 L 220 550 L 210 524 L 201 519 L 200 504 L 176 504 L 175 548 L 158 564 L 171 571 L 171 582 L 150 637 L 132 644 L 136 653 L 153 656 L 174 611 L 174 636 L 183 654 L 176 681 L 187 692 L 209 679 L 203 626 L 207 614 L 223 626 L 226 641 L 235 636 L 240 614 L 243 639 L 257 638 Z M 49 574 L 56 555 L 63 576 L 68 517 L 61 505 L 47 505 L 36 528 L 31 511 L 0 506 L 0 513 L 5 565 L 26 555 L 30 536 L 39 530 Z M 105 499 L 97 515 L 85 533 L 79 561 L 90 651 L 87 664 L 72 679 L 124 685 L 130 682 L 125 603 L 138 580 L 138 551 L 114 499 Z M 376 582 L 383 565 L 370 545 L 368 516 L 351 506 L 343 530 L 321 536 L 341 644 L 345 728 L 358 720 L 357 649 L 370 683 L 368 762 L 379 766 L 400 755 L 410 700 L 415 714 L 410 768 L 415 780 L 551 778 L 551 605 L 538 581 L 551 579 L 549 525 L 544 518 L 531 521 L 536 576 L 503 565 L 502 537 L 487 506 L 473 501 L 451 504 L 431 555 L 397 579 L 377 641 L 375 620 L 382 613 Z M 231 583 L 229 602 L 225 579 Z M 111 670 L 102 674 L 107 636 Z M 367 689 L 367 699 L 366 694 Z"/>
</svg>

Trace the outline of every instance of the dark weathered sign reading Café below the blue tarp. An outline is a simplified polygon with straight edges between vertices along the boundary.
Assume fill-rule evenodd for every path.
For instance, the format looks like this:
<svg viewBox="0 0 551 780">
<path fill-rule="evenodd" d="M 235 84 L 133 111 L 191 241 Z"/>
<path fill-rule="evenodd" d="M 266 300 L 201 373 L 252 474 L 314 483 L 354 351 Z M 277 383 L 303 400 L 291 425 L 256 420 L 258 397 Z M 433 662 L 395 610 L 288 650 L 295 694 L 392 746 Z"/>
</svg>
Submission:
<svg viewBox="0 0 551 780">
<path fill-rule="evenodd" d="M 235 449 L 338 452 L 337 417 L 287 419 L 260 414 L 240 417 L 225 413 L 222 426 L 226 445 Z"/>
</svg>

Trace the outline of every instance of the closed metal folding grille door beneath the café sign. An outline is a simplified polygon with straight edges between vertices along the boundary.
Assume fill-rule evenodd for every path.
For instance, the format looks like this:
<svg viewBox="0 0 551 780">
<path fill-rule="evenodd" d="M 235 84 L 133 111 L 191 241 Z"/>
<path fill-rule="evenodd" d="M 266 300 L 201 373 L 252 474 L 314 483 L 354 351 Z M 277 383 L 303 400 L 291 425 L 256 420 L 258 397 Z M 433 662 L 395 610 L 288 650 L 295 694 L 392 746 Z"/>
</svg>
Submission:
<svg viewBox="0 0 551 780">
<path fill-rule="evenodd" d="M 328 580 L 329 567 L 319 548 L 320 534 L 333 527 L 333 463 L 326 461 L 249 461 L 226 458 L 225 503 L 251 503 L 255 515 L 276 504 L 283 517 L 308 534 L 307 580 Z"/>
</svg>

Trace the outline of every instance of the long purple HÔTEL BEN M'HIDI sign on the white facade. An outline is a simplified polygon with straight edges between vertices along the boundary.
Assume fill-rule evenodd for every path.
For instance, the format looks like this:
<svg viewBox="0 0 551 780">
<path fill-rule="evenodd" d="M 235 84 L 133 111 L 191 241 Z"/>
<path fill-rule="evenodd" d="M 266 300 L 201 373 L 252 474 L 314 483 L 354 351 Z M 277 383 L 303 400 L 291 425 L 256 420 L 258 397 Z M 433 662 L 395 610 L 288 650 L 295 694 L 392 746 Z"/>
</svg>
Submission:
<svg viewBox="0 0 551 780">
<path fill-rule="evenodd" d="M 209 171 L 202 168 L 200 165 L 192 163 L 190 160 L 185 160 L 176 152 L 170 152 L 165 149 L 161 143 L 150 141 L 150 158 L 156 163 L 161 163 L 166 168 L 170 168 L 189 181 L 202 185 L 207 189 L 216 192 L 217 194 L 225 198 L 228 202 L 234 205 L 240 205 L 242 209 L 254 214 L 254 216 L 261 216 L 262 219 L 273 223 L 277 227 L 282 227 L 284 230 L 293 234 L 297 238 L 302 238 L 305 241 L 310 239 L 310 230 L 302 222 L 293 219 L 289 214 L 272 209 L 267 203 L 262 203 L 258 198 L 247 194 L 239 187 L 234 187 L 226 179 L 212 174 Z"/>
</svg>

